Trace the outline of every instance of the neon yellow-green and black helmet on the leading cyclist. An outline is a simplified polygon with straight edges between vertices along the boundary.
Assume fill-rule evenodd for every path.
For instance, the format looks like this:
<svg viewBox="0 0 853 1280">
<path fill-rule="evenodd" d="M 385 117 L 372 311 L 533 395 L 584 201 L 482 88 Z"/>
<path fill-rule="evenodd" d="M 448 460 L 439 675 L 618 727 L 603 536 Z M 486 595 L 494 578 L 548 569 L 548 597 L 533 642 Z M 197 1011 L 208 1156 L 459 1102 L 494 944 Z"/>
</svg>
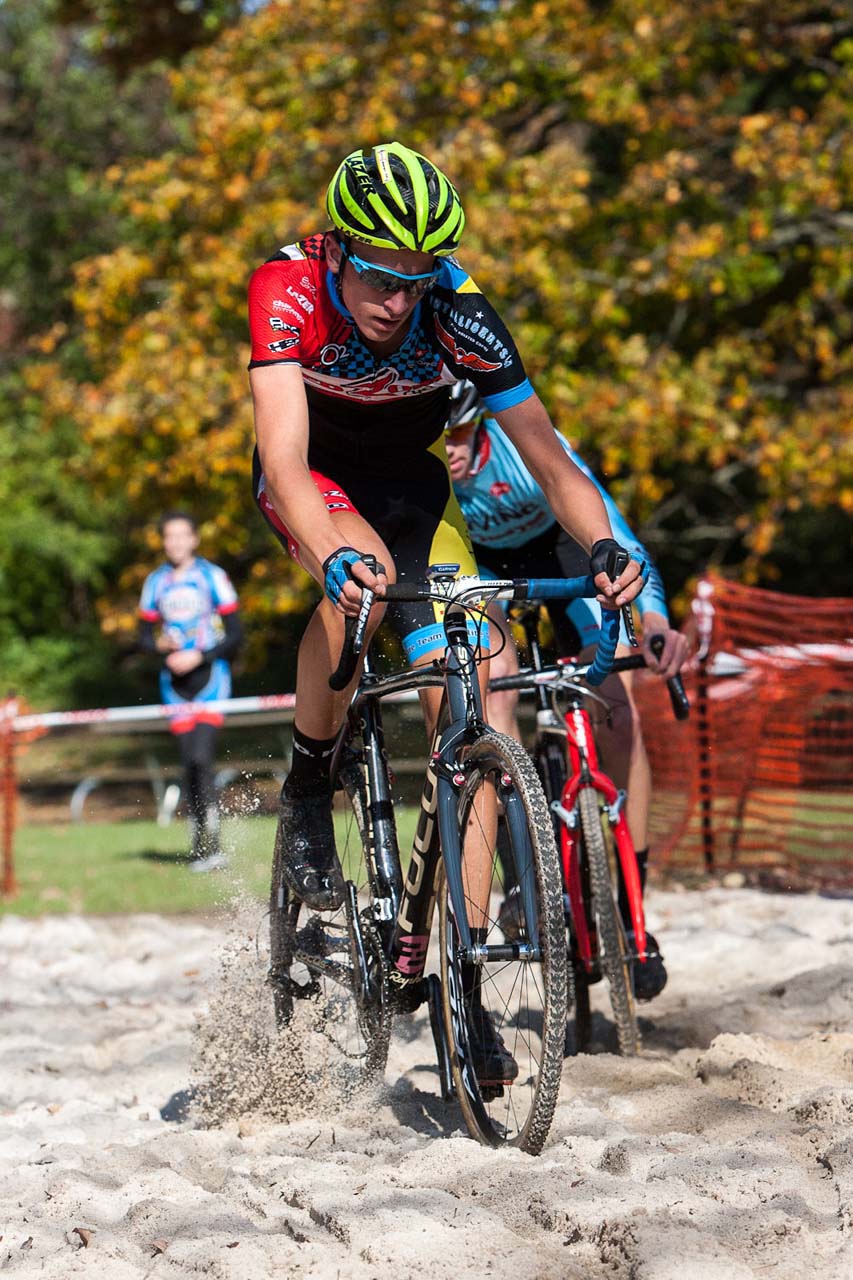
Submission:
<svg viewBox="0 0 853 1280">
<path fill-rule="evenodd" d="M 465 227 L 453 184 L 401 142 L 352 151 L 329 183 L 325 205 L 339 232 L 377 248 L 441 257 L 456 250 Z"/>
</svg>

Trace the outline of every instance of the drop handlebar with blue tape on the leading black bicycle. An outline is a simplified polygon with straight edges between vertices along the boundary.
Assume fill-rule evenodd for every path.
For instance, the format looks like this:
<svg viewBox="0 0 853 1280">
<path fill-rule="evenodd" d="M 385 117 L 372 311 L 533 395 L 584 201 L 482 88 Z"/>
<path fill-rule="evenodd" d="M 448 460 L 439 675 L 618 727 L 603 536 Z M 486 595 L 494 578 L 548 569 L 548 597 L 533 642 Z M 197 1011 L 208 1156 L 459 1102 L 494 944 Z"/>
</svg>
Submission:
<svg viewBox="0 0 853 1280">
<path fill-rule="evenodd" d="M 362 556 L 368 567 L 377 572 L 375 561 Z M 444 604 L 488 600 L 575 600 L 594 598 L 598 589 L 587 573 L 583 577 L 539 577 L 539 579 L 482 579 L 482 577 L 434 577 L 418 582 L 394 582 L 386 588 L 384 600 L 412 603 L 435 600 Z M 338 692 L 346 689 L 355 676 L 359 657 L 364 648 L 365 628 L 370 608 L 377 599 L 369 588 L 362 589 L 361 608 L 357 618 L 347 618 L 345 623 L 343 646 L 337 671 L 329 677 L 329 687 Z M 610 673 L 619 644 L 620 609 L 602 609 L 602 625 L 598 648 L 587 673 L 587 682 L 601 685 Z"/>
</svg>

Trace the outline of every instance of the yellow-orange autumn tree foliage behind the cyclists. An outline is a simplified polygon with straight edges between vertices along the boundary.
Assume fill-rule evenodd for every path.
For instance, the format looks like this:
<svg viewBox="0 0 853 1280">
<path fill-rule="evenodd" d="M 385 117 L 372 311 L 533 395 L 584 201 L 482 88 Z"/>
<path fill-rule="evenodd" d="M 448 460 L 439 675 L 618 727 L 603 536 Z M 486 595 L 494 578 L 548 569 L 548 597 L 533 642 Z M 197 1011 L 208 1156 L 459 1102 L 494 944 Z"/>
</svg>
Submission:
<svg viewBox="0 0 853 1280">
<path fill-rule="evenodd" d="M 462 261 L 674 586 L 716 562 L 845 590 L 847 0 L 278 0 L 172 90 L 179 143 L 109 172 L 120 242 L 78 262 L 28 375 L 124 507 L 105 626 L 129 626 L 173 504 L 250 617 L 304 607 L 250 497 L 246 282 L 325 225 L 341 156 L 389 138 L 455 179 Z"/>
</svg>

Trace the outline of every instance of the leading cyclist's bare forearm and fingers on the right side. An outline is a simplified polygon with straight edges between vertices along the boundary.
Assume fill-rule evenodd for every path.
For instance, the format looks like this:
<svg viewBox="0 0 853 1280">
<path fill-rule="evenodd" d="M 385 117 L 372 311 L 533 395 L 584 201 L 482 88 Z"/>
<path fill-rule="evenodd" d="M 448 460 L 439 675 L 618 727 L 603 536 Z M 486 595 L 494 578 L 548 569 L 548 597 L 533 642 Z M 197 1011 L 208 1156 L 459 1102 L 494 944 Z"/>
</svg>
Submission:
<svg viewBox="0 0 853 1280">
<path fill-rule="evenodd" d="M 562 527 L 589 552 L 593 543 L 612 538 L 610 520 L 596 485 L 566 456 L 557 440 L 551 419 L 538 396 L 494 415 L 534 480 L 544 492 L 548 504 Z M 615 582 L 605 573 L 596 579 L 599 603 L 628 604 L 643 586 L 640 567 L 630 561 Z"/>
</svg>

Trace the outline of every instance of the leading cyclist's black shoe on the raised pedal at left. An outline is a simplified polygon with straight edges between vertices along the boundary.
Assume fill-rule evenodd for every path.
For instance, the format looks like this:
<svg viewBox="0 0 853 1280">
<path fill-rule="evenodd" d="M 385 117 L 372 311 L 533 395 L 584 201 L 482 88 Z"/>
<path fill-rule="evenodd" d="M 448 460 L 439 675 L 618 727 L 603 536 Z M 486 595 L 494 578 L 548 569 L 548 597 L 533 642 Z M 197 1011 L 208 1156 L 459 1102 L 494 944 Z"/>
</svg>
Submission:
<svg viewBox="0 0 853 1280">
<path fill-rule="evenodd" d="M 332 796 L 328 788 L 282 787 L 282 877 L 295 897 L 314 911 L 334 911 L 343 902 L 343 876 L 334 847 Z"/>
</svg>

